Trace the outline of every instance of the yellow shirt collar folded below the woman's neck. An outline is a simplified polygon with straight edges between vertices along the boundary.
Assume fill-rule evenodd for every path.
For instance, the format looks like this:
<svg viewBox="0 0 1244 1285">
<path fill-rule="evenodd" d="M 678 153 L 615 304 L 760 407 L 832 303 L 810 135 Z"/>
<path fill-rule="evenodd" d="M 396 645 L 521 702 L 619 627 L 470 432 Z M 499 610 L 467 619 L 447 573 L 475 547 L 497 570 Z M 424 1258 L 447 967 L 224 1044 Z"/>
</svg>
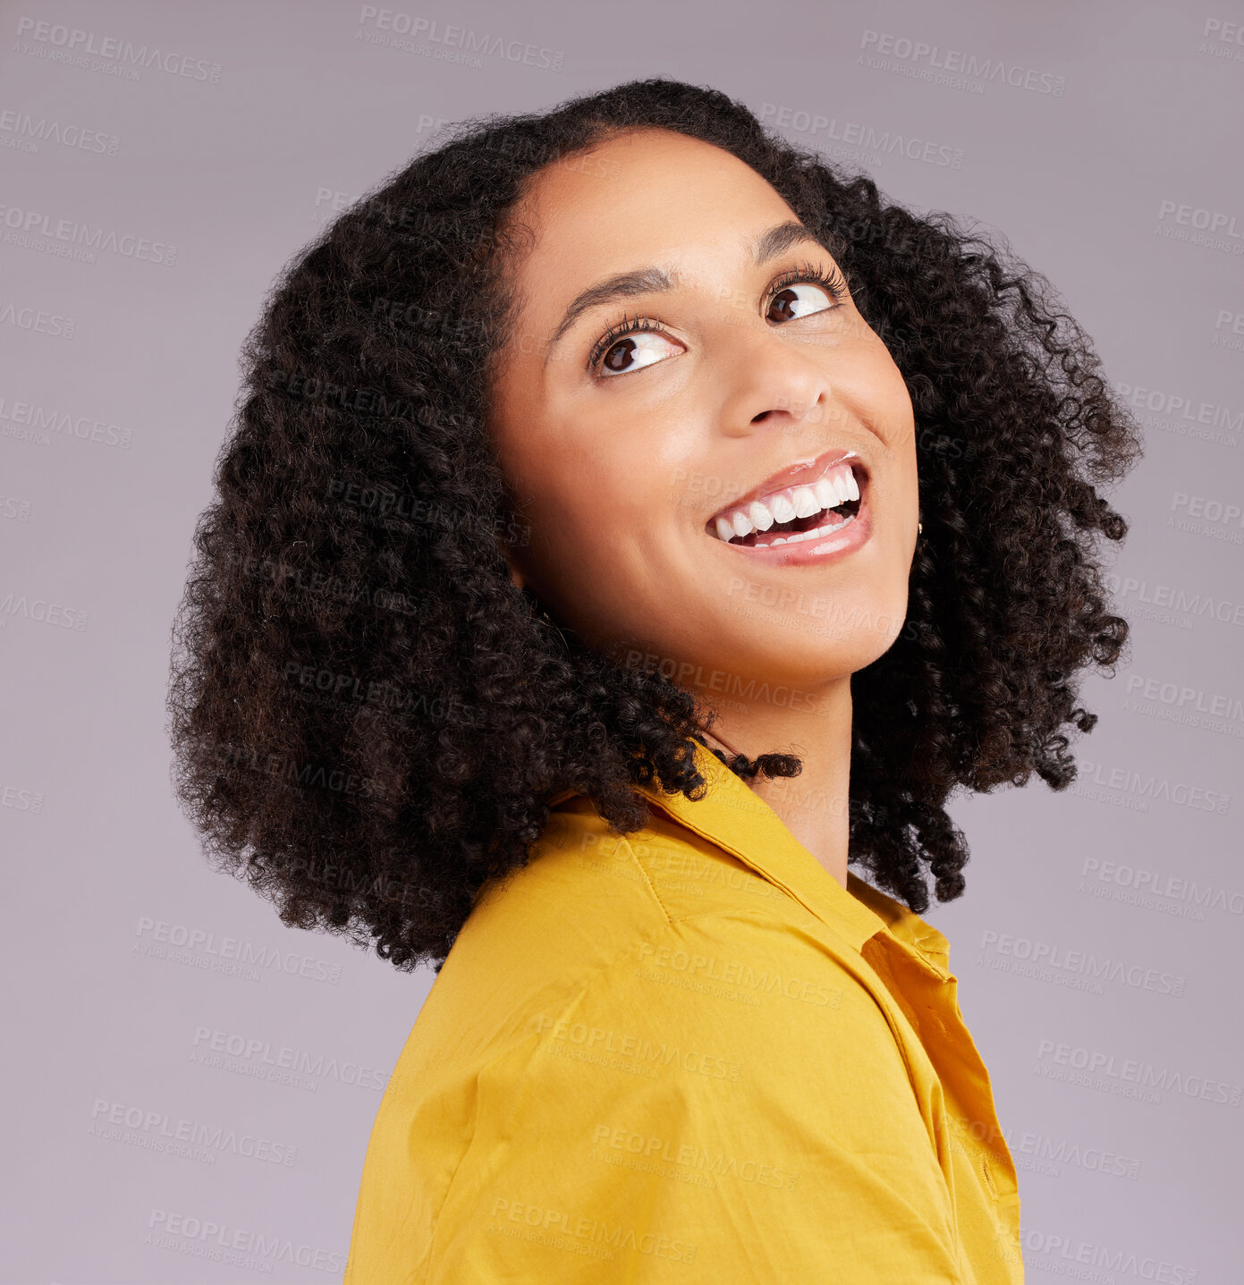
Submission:
<svg viewBox="0 0 1244 1285">
<path fill-rule="evenodd" d="M 848 871 L 843 888 L 742 777 L 699 741 L 690 744 L 695 767 L 708 783 L 703 798 L 691 801 L 682 793 L 667 794 L 655 783 L 640 785 L 650 804 L 781 888 L 855 950 L 884 933 L 912 950 L 941 977 L 947 975 L 950 947 L 936 928 L 853 871 Z M 563 792 L 553 806 L 574 793 Z"/>
</svg>

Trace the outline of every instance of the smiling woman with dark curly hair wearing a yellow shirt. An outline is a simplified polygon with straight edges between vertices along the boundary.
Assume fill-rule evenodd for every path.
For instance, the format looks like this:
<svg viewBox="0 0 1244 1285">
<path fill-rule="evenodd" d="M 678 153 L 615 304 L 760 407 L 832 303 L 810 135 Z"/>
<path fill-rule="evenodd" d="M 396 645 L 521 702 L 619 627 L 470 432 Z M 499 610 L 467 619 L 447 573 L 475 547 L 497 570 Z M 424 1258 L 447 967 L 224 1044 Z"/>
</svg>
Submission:
<svg viewBox="0 0 1244 1285">
<path fill-rule="evenodd" d="M 1127 636 L 1136 428 L 1044 288 L 663 78 L 287 271 L 170 702 L 224 866 L 437 968 L 350 1285 L 1022 1280 L 919 915 Z"/>
</svg>

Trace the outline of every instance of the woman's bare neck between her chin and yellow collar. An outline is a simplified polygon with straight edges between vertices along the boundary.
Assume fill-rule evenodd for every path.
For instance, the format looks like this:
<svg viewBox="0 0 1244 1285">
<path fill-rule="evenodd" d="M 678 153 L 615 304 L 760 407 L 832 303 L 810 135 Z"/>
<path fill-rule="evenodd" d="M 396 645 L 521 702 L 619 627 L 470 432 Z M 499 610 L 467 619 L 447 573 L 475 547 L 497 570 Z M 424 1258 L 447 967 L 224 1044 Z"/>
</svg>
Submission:
<svg viewBox="0 0 1244 1285">
<path fill-rule="evenodd" d="M 790 705 L 752 703 L 744 711 L 724 709 L 704 740 L 731 756 L 756 758 L 776 752 L 802 759 L 803 771 L 798 776 L 754 776 L 748 784 L 846 888 L 851 833 L 847 806 L 851 678 L 834 678 L 816 693 L 801 696 L 799 708 L 792 708 L 792 700 Z"/>
</svg>

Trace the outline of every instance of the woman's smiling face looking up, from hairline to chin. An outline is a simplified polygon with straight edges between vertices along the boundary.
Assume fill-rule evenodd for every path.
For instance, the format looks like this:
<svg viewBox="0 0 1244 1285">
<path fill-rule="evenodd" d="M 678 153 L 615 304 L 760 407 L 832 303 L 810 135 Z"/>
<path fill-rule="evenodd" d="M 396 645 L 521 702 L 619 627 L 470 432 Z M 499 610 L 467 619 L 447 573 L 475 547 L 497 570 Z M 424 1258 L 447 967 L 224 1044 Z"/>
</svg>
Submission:
<svg viewBox="0 0 1244 1285">
<path fill-rule="evenodd" d="M 722 695 L 876 659 L 906 614 L 914 418 L 849 296 L 812 279 L 829 252 L 742 161 L 664 130 L 546 167 L 514 215 L 535 238 L 490 432 L 531 527 L 515 581 Z"/>
</svg>

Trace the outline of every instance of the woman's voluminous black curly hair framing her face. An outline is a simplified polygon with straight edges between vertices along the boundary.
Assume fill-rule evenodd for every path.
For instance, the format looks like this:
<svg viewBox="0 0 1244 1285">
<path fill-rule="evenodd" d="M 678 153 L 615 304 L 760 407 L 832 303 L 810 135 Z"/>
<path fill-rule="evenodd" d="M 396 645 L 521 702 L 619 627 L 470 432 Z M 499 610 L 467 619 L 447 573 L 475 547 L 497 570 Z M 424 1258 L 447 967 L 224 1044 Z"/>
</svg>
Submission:
<svg viewBox="0 0 1244 1285">
<path fill-rule="evenodd" d="M 848 860 L 914 911 L 964 889 L 943 804 L 1076 775 L 1077 671 L 1112 667 L 1099 495 L 1140 454 L 1091 341 L 1008 247 L 925 217 L 663 77 L 487 116 L 297 256 L 243 348 L 173 623 L 173 785 L 220 869 L 290 926 L 438 970 L 484 882 L 531 860 L 550 802 L 619 834 L 636 784 L 700 797 L 716 714 L 558 627 L 511 582 L 524 538 L 486 432 L 514 333 L 506 215 L 532 176 L 618 130 L 675 130 L 765 177 L 834 254 L 915 409 L 924 536 L 909 617 L 852 676 Z M 726 759 L 744 779 L 798 758 Z M 925 867 L 928 870 L 925 871 Z"/>
</svg>

